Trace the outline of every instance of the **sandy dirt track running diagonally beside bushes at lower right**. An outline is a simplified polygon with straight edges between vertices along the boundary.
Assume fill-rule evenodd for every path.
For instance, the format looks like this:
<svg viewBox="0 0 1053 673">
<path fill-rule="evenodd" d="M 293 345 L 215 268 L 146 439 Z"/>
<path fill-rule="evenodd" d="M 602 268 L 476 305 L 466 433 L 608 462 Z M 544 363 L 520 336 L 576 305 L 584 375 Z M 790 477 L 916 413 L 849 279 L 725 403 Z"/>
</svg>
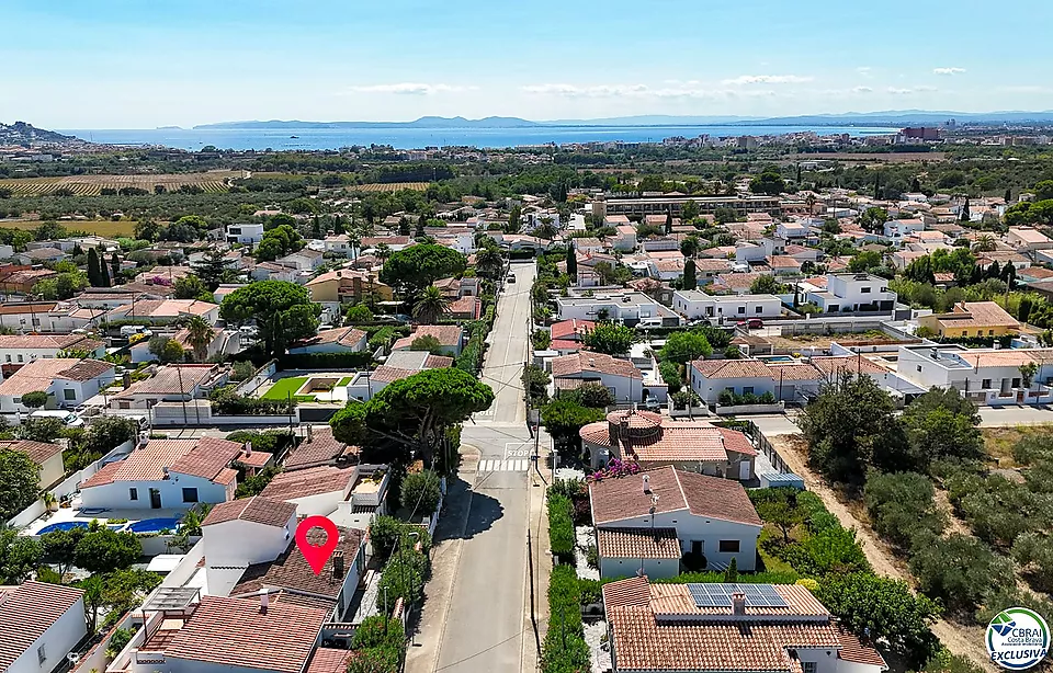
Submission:
<svg viewBox="0 0 1053 673">
<path fill-rule="evenodd" d="M 822 477 L 816 475 L 807 465 L 807 445 L 801 435 L 775 435 L 769 437 L 772 446 L 779 452 L 783 460 L 791 470 L 804 480 L 805 487 L 823 500 L 823 504 L 830 511 L 830 514 L 837 517 L 846 528 L 857 531 L 857 539 L 863 547 L 863 554 L 870 561 L 874 572 L 888 578 L 903 580 L 910 586 L 915 586 L 914 577 L 907 570 L 906 563 L 896 557 L 888 545 L 878 538 L 876 535 L 864 524 L 863 516 L 854 512 L 861 511 L 862 503 L 859 500 L 847 502 L 845 493 L 839 493 L 830 488 Z M 946 495 L 944 495 L 946 502 Z M 950 503 L 946 502 L 950 507 Z M 942 505 L 941 505 L 942 506 Z M 959 522 L 961 525 L 961 522 Z M 967 531 L 965 531 L 967 533 Z M 954 654 L 969 657 L 976 664 L 982 665 L 988 671 L 998 669 L 990 663 L 987 658 L 987 650 L 984 648 L 983 629 L 978 626 L 963 626 L 946 619 L 940 619 L 932 625 L 932 632 L 936 634 L 940 642 Z"/>
</svg>

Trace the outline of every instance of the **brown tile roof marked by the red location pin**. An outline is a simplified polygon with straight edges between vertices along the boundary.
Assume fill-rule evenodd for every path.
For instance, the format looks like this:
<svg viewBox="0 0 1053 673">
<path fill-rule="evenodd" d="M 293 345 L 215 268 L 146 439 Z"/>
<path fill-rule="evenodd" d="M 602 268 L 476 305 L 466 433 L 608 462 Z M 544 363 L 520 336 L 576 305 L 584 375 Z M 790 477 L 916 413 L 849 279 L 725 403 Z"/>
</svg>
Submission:
<svg viewBox="0 0 1053 673">
<path fill-rule="evenodd" d="M 365 544 L 365 531 L 341 527 L 337 531 L 340 532 L 337 549 L 343 550 L 344 568 L 350 568 L 359 555 L 359 549 Z M 321 545 L 326 541 L 326 533 L 313 528 L 307 533 L 307 540 L 312 545 Z M 273 561 L 250 564 L 238 584 L 230 590 L 230 595 L 256 593 L 261 589 L 288 589 L 314 596 L 336 598 L 343 590 L 343 578 L 332 577 L 332 557 L 326 561 L 321 572 L 315 574 L 296 544 L 290 540 L 285 551 Z"/>
</svg>

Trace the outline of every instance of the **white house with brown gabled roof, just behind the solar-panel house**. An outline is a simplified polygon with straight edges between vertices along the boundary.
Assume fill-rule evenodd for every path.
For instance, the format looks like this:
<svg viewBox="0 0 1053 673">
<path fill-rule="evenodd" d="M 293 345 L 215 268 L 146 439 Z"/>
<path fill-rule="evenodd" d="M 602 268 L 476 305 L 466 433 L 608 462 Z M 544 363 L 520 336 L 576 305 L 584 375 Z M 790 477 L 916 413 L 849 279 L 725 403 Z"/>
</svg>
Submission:
<svg viewBox="0 0 1053 673">
<path fill-rule="evenodd" d="M 739 570 L 756 567 L 763 523 L 737 481 L 664 467 L 590 483 L 589 499 L 600 577 L 629 577 L 641 566 L 649 578 L 676 577 L 686 554 L 704 557 L 707 568 L 732 559 Z"/>
</svg>

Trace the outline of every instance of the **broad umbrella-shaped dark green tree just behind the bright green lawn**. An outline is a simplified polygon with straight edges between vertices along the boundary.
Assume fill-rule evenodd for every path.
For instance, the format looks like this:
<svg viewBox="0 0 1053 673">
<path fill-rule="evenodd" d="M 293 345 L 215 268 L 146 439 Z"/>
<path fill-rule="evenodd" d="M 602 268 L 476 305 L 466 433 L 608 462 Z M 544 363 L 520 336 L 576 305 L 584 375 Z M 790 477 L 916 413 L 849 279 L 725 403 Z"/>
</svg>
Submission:
<svg viewBox="0 0 1053 673">
<path fill-rule="evenodd" d="M 281 355 L 288 343 L 314 336 L 321 307 L 307 288 L 284 281 L 261 281 L 240 287 L 223 300 L 219 315 L 228 322 L 256 320 L 267 352 Z"/>
</svg>

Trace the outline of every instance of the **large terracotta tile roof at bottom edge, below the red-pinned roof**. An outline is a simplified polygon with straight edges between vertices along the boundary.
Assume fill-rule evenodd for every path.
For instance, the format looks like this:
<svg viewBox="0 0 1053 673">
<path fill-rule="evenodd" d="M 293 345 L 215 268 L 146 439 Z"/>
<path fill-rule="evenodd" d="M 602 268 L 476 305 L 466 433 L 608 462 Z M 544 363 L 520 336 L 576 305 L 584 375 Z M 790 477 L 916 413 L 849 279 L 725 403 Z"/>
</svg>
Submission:
<svg viewBox="0 0 1053 673">
<path fill-rule="evenodd" d="M 166 657 L 230 668 L 301 673 L 326 620 L 319 609 L 202 596 L 196 612 L 165 650 Z"/>
</svg>

